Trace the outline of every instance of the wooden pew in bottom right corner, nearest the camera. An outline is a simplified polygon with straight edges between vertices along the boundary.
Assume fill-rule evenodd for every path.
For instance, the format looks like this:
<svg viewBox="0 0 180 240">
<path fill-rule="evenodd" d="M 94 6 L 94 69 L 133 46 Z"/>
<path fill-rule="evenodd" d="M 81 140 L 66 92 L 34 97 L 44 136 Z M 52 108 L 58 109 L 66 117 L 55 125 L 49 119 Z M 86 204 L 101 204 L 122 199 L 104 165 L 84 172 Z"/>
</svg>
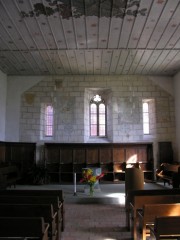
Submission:
<svg viewBox="0 0 180 240">
<path fill-rule="evenodd" d="M 154 226 L 150 226 L 151 238 L 160 240 L 162 237 L 179 237 L 180 239 L 180 216 L 156 217 Z"/>
</svg>

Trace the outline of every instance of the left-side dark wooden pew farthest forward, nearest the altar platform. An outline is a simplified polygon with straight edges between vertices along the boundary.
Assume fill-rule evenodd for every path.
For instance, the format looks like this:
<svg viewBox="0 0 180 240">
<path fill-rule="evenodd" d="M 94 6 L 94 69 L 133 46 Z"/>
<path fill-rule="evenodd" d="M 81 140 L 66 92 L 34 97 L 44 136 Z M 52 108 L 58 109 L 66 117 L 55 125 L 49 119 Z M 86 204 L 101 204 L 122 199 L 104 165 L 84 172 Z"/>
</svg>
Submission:
<svg viewBox="0 0 180 240">
<path fill-rule="evenodd" d="M 0 196 L 1 195 L 24 195 L 24 196 L 56 196 L 59 198 L 59 206 L 61 216 L 58 216 L 59 219 L 62 219 L 61 224 L 61 230 L 64 231 L 65 228 L 65 208 L 64 208 L 64 194 L 63 190 L 19 190 L 19 189 L 6 189 L 6 190 L 0 190 Z"/>
</svg>

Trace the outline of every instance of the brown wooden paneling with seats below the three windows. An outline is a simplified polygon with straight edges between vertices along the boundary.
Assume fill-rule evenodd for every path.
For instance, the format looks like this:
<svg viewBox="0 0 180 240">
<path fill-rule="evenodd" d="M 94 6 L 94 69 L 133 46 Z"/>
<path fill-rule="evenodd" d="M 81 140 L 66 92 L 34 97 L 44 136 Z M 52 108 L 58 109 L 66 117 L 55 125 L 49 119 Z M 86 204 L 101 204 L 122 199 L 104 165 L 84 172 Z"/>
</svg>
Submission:
<svg viewBox="0 0 180 240">
<path fill-rule="evenodd" d="M 55 148 L 57 150 L 55 150 Z M 49 150 L 50 153 L 48 153 Z M 52 151 L 54 152 L 51 153 Z M 68 181 L 68 179 L 72 181 L 74 173 L 76 173 L 77 178 L 80 179 L 82 168 L 86 167 L 101 167 L 102 171 L 106 173 L 104 179 L 113 181 L 119 178 L 121 174 L 124 174 L 125 163 L 133 164 L 137 161 L 141 162 L 141 167 L 144 171 L 153 170 L 152 144 L 150 143 L 47 143 L 45 144 L 45 162 L 50 163 L 52 160 L 53 164 L 54 154 L 55 158 L 58 159 L 58 152 L 60 153 L 60 165 L 59 168 L 57 166 L 54 174 L 59 176 L 59 181 Z M 50 171 L 51 167 L 49 164 L 48 167 Z M 50 172 L 52 174 L 52 171 Z"/>
</svg>

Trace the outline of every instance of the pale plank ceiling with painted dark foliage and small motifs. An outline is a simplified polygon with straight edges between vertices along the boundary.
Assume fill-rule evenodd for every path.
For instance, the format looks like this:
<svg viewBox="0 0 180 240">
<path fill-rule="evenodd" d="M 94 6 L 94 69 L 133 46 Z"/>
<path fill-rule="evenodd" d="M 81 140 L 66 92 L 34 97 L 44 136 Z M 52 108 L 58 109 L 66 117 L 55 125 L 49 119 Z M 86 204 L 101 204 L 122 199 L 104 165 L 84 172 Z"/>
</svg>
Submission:
<svg viewBox="0 0 180 240">
<path fill-rule="evenodd" d="M 180 70 L 180 0 L 0 0 L 8 75 Z"/>
</svg>

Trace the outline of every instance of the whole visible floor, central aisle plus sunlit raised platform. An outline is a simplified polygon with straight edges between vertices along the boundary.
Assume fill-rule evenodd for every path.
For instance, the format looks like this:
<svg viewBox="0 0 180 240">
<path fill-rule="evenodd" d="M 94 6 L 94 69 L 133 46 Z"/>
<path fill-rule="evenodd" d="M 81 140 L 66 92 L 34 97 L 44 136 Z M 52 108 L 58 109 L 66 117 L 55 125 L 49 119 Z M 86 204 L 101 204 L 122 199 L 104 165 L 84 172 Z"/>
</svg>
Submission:
<svg viewBox="0 0 180 240">
<path fill-rule="evenodd" d="M 169 187 L 169 186 L 166 186 Z M 65 231 L 61 240 L 130 240 L 125 227 L 125 185 L 100 184 L 90 197 L 85 185 L 17 186 L 17 189 L 62 189 L 65 197 Z M 145 189 L 164 188 L 145 183 Z M 139 235 L 139 240 L 141 236 Z"/>
</svg>

